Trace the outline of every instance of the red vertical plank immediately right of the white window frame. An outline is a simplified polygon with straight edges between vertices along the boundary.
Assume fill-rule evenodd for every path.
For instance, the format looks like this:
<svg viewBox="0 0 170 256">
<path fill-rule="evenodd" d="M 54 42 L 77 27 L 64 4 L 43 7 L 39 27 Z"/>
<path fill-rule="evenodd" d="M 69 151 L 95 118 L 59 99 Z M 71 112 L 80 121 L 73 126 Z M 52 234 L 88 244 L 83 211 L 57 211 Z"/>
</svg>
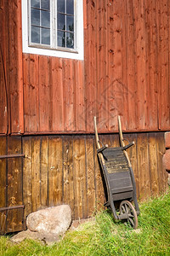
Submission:
<svg viewBox="0 0 170 256">
<path fill-rule="evenodd" d="M 86 131 L 94 131 L 94 115 L 96 115 L 96 4 L 96 0 L 87 2 L 87 30 L 84 32 Z"/>
</svg>

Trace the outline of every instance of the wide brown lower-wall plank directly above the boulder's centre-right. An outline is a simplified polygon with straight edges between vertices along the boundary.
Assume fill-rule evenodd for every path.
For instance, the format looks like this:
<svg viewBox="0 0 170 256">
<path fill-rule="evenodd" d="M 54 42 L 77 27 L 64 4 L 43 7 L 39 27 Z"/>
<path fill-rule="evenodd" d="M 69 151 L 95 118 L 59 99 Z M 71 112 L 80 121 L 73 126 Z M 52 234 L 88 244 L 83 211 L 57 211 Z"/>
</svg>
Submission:
<svg viewBox="0 0 170 256">
<path fill-rule="evenodd" d="M 48 137 L 48 207 L 63 201 L 62 138 Z"/>
</svg>

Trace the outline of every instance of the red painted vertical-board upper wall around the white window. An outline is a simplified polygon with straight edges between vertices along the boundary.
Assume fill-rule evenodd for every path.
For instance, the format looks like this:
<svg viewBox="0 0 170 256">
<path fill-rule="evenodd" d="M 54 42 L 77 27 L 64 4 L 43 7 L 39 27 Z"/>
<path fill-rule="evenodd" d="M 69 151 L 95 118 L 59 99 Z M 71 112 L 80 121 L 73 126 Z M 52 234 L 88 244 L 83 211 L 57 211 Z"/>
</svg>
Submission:
<svg viewBox="0 0 170 256">
<path fill-rule="evenodd" d="M 84 61 L 22 54 L 20 0 L 0 27 L 1 134 L 169 131 L 168 0 L 84 1 Z"/>
</svg>

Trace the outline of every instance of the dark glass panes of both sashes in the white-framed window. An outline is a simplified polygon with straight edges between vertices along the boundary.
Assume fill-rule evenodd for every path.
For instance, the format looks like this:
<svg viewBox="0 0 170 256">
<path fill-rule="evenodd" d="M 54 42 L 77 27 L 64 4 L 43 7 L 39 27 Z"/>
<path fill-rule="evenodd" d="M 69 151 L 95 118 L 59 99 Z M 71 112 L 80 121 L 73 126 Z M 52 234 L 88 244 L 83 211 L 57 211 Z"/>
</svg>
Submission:
<svg viewBox="0 0 170 256">
<path fill-rule="evenodd" d="M 54 0 L 57 4 L 57 45 L 74 49 L 74 0 Z M 77 0 L 78 1 L 78 0 Z M 31 43 L 50 45 L 50 0 L 31 0 Z"/>
</svg>

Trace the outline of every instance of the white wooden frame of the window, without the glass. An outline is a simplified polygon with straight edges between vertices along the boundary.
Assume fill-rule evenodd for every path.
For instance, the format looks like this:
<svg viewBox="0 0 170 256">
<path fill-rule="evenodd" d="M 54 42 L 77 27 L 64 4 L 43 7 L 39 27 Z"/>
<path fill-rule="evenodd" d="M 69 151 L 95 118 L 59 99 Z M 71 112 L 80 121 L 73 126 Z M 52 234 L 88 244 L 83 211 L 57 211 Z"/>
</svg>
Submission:
<svg viewBox="0 0 170 256">
<path fill-rule="evenodd" d="M 50 0 L 51 4 L 51 15 L 54 12 L 55 0 Z M 84 38 L 83 38 L 83 0 L 75 1 L 75 49 L 68 49 L 64 47 L 52 47 L 44 44 L 32 44 L 30 42 L 30 8 L 29 0 L 22 0 L 22 50 L 24 53 L 37 54 L 37 55 L 48 55 L 59 58 L 68 58 L 75 60 L 83 60 L 84 58 Z M 52 22 L 52 19 L 50 19 Z M 55 24 L 51 24 L 51 38 L 56 42 L 57 38 L 54 38 L 53 30 L 56 29 Z M 55 33 L 56 36 L 56 33 Z M 53 45 L 55 42 L 53 41 Z"/>
</svg>

